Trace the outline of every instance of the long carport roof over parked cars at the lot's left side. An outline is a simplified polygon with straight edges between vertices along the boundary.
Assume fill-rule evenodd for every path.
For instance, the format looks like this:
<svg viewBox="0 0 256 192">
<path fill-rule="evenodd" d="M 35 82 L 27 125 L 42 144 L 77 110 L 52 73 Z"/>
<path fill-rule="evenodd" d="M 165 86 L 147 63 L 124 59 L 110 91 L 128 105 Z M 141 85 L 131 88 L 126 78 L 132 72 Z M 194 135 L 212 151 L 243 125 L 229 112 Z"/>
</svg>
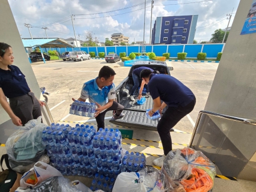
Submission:
<svg viewBox="0 0 256 192">
<path fill-rule="evenodd" d="M 25 48 L 60 48 L 72 47 L 67 41 L 61 38 L 46 38 L 46 39 L 22 39 Z"/>
</svg>

